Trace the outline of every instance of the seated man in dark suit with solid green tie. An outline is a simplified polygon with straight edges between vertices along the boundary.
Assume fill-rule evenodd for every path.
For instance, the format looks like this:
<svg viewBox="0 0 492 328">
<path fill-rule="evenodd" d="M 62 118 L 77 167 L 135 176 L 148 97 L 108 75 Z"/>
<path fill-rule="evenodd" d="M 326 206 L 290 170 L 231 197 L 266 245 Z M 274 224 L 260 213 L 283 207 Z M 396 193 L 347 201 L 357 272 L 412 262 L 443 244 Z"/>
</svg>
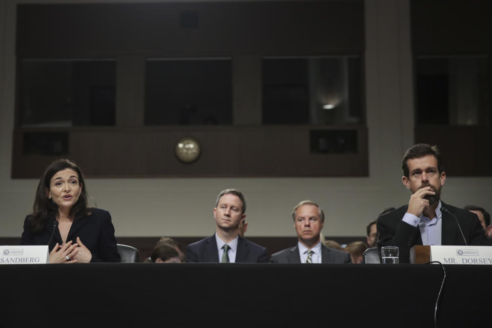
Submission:
<svg viewBox="0 0 492 328">
<path fill-rule="evenodd" d="M 265 263 L 267 250 L 239 236 L 239 223 L 246 216 L 246 200 L 241 192 L 226 189 L 217 197 L 212 236 L 189 244 L 187 262 Z"/>
</svg>

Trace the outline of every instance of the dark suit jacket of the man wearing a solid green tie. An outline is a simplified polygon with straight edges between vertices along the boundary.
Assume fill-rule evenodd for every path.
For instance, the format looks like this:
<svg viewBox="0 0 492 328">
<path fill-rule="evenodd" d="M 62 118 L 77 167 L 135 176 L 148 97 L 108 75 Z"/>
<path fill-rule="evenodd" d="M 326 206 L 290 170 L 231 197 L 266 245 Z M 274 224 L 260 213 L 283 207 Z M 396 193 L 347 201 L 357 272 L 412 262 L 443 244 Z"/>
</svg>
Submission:
<svg viewBox="0 0 492 328">
<path fill-rule="evenodd" d="M 187 262 L 218 263 L 219 253 L 215 234 L 191 243 L 186 248 Z M 239 236 L 237 241 L 236 263 L 267 263 L 267 249 Z"/>
</svg>

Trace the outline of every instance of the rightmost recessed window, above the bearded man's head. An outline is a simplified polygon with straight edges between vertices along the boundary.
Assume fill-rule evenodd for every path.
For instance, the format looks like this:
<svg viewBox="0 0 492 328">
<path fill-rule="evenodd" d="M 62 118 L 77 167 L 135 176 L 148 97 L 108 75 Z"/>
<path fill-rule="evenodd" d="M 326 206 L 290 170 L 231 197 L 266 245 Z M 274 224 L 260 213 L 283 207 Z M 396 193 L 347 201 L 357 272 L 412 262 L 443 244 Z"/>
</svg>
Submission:
<svg viewBox="0 0 492 328">
<path fill-rule="evenodd" d="M 488 56 L 418 56 L 418 125 L 490 125 Z"/>
</svg>

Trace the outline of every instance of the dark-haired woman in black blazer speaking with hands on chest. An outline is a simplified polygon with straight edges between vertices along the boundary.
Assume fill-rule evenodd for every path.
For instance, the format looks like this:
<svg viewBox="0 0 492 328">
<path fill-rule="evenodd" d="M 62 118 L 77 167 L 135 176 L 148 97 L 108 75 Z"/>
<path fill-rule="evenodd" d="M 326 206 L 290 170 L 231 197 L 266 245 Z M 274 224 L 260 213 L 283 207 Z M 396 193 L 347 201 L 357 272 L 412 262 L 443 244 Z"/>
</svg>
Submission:
<svg viewBox="0 0 492 328">
<path fill-rule="evenodd" d="M 84 176 L 68 159 L 52 162 L 39 180 L 22 244 L 47 244 L 50 263 L 120 261 L 111 215 L 87 206 Z"/>
</svg>

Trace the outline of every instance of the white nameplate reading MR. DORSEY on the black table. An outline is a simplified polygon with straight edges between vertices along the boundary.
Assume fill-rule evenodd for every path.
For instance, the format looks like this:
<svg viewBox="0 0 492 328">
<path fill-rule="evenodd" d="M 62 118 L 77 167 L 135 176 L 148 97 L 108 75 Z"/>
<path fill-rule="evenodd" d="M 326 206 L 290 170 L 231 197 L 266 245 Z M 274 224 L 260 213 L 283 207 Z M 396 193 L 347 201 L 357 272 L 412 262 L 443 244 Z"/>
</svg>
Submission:
<svg viewBox="0 0 492 328">
<path fill-rule="evenodd" d="M 492 246 L 430 246 L 430 260 L 442 264 L 492 264 Z"/>
</svg>

